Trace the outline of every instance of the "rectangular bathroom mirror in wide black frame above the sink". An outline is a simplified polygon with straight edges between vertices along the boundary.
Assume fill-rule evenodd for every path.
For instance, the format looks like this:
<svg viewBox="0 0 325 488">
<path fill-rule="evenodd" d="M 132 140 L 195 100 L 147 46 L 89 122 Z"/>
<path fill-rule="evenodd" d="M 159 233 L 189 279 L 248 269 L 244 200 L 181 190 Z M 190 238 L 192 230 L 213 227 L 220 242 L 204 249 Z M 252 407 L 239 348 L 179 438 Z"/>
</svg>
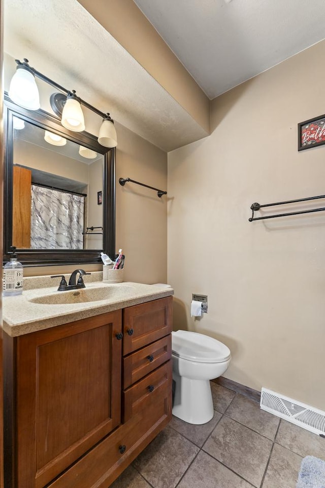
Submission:
<svg viewBox="0 0 325 488">
<path fill-rule="evenodd" d="M 4 252 L 24 265 L 101 263 L 115 254 L 115 149 L 5 96 Z"/>
</svg>

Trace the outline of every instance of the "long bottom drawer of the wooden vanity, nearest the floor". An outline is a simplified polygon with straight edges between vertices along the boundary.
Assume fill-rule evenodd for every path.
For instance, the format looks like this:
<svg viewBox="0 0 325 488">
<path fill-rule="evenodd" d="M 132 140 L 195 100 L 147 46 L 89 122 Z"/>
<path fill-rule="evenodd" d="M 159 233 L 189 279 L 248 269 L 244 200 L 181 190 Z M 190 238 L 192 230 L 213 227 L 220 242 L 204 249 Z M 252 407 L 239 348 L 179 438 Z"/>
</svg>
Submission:
<svg viewBox="0 0 325 488">
<path fill-rule="evenodd" d="M 107 488 L 168 424 L 171 417 L 170 380 L 148 395 L 145 408 L 138 409 L 128 422 L 120 425 L 48 488 Z M 125 446 L 124 452 L 121 452 L 121 446 Z"/>
</svg>

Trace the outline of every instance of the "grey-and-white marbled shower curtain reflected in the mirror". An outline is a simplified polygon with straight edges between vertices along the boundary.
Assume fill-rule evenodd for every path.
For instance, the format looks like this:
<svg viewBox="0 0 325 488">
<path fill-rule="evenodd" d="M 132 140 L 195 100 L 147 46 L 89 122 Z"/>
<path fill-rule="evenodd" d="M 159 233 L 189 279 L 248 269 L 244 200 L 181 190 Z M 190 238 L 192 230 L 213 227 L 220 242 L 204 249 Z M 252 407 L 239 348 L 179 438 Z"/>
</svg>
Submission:
<svg viewBox="0 0 325 488">
<path fill-rule="evenodd" d="M 83 249 L 85 197 L 31 185 L 31 249 Z"/>
</svg>

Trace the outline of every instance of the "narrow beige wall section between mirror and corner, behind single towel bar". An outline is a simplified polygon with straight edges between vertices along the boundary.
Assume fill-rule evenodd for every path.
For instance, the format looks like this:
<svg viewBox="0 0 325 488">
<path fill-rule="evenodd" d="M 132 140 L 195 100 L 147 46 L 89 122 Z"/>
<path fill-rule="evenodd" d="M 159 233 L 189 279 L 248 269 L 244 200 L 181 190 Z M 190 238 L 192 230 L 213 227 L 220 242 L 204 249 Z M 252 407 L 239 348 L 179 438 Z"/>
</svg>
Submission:
<svg viewBox="0 0 325 488">
<path fill-rule="evenodd" d="M 128 182 L 129 177 L 167 190 L 167 153 L 133 132 L 116 126 L 116 250 L 125 254 L 124 279 L 167 283 L 167 201 L 153 190 Z"/>
</svg>

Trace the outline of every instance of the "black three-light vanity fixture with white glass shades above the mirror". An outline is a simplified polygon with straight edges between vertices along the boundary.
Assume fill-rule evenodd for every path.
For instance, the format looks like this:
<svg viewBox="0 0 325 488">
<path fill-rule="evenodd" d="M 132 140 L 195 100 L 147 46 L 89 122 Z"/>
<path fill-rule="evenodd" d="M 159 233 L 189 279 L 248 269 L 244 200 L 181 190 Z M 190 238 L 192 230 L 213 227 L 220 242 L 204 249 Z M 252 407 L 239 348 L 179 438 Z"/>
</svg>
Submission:
<svg viewBox="0 0 325 488">
<path fill-rule="evenodd" d="M 16 59 L 16 63 L 18 65 L 17 70 L 11 80 L 9 89 L 9 97 L 13 102 L 29 110 L 38 110 L 40 108 L 40 97 L 35 77 L 40 78 L 61 92 L 51 95 L 50 104 L 54 113 L 61 117 L 63 127 L 74 132 L 82 132 L 85 130 L 84 115 L 81 108 L 81 105 L 83 105 L 92 112 L 100 115 L 103 119 L 98 142 L 105 147 L 115 147 L 117 145 L 114 120 L 110 117 L 109 113 L 102 112 L 80 97 L 77 97 L 75 90 L 67 90 L 67 88 L 59 85 L 34 68 L 31 68 L 28 65 L 28 59 L 24 58 L 23 63 L 19 59 Z"/>
</svg>

